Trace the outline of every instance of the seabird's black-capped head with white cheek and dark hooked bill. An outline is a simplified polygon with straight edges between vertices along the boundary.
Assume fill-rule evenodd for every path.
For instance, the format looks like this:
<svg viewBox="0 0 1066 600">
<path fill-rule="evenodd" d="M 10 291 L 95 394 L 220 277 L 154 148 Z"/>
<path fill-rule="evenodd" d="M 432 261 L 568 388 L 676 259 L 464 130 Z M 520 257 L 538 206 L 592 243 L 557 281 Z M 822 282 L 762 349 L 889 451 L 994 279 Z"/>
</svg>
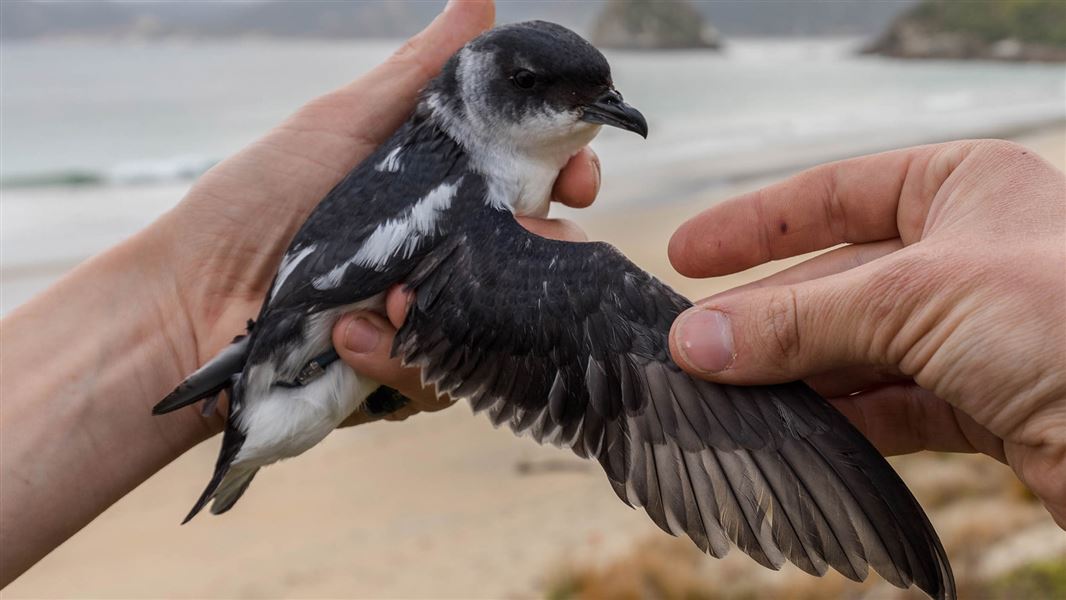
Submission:
<svg viewBox="0 0 1066 600">
<path fill-rule="evenodd" d="M 572 153 L 610 125 L 647 136 L 607 59 L 572 31 L 529 21 L 471 40 L 426 90 L 429 108 L 466 145 L 527 156 Z"/>
</svg>

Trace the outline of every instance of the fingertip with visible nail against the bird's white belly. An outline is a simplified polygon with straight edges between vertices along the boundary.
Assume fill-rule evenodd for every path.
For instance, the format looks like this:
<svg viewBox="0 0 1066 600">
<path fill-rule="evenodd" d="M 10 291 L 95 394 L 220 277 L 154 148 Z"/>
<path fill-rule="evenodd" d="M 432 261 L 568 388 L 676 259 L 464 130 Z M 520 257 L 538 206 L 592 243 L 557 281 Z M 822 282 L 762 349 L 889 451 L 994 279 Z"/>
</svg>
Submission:
<svg viewBox="0 0 1066 600">
<path fill-rule="evenodd" d="M 418 369 L 405 368 L 390 356 L 395 329 L 371 312 L 342 317 L 333 330 L 333 343 L 341 360 L 357 373 L 398 390 L 417 402 L 432 403 L 436 394 L 422 387 Z"/>
</svg>

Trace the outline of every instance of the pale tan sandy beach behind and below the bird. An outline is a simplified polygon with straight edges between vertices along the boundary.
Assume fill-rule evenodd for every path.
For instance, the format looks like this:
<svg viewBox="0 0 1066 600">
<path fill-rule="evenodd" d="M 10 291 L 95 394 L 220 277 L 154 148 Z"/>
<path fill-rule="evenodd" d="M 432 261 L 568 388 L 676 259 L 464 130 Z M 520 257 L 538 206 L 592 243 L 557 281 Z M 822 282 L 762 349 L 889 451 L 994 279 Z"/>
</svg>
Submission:
<svg viewBox="0 0 1066 600">
<path fill-rule="evenodd" d="M 1066 168 L 1066 126 L 1016 139 Z M 666 258 L 666 241 L 682 221 L 768 180 L 748 178 L 649 208 L 612 207 L 608 189 L 596 207 L 561 212 L 592 239 L 614 243 L 698 298 L 794 262 L 692 280 L 677 275 Z M 64 263 L 56 261 L 61 271 Z M 179 526 L 210 474 L 217 443 L 210 440 L 169 465 L 9 586 L 3 597 L 529 598 L 543 596 L 567 565 L 603 564 L 647 539 L 668 539 L 643 514 L 618 502 L 595 464 L 496 431 L 487 419 L 471 417 L 465 405 L 401 424 L 337 432 L 298 459 L 264 470 L 237 509 Z M 973 519 L 963 515 L 1005 510 L 982 501 L 980 493 L 962 504 L 938 500 L 951 477 L 972 474 L 999 485 L 1010 474 L 980 457 L 948 463 L 958 469 L 937 470 L 944 460 L 923 455 L 897 464 L 932 506 L 932 519 L 951 551 L 952 544 L 972 544 L 967 528 Z M 1013 488 L 988 496 L 996 502 L 1023 497 Z M 972 564 L 959 557 L 958 568 L 1006 568 L 1017 555 L 1011 549 L 1019 545 L 1035 545 L 1040 556 L 1066 558 L 1066 535 L 1038 505 L 1017 502 L 1011 528 L 984 533 L 981 555 Z M 997 555 L 1000 563 L 978 562 Z M 709 577 L 749 578 L 771 586 L 805 581 L 791 571 L 764 571 L 738 551 L 727 561 L 699 565 L 711 569 Z M 878 597 L 895 594 L 870 589 Z"/>
</svg>

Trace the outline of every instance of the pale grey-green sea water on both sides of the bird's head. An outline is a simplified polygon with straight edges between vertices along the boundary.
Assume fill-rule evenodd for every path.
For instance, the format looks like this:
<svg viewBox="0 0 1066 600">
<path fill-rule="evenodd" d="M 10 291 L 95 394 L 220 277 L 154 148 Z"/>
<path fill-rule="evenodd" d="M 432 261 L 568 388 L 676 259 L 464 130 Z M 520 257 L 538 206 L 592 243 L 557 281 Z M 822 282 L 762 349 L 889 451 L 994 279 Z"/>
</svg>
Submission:
<svg viewBox="0 0 1066 600">
<path fill-rule="evenodd" d="M 178 201 L 210 165 L 399 42 L 0 45 L 0 311 Z M 609 52 L 649 139 L 604 131 L 602 194 L 667 202 L 863 151 L 1066 118 L 1063 65 L 899 61 L 857 39 Z"/>
</svg>

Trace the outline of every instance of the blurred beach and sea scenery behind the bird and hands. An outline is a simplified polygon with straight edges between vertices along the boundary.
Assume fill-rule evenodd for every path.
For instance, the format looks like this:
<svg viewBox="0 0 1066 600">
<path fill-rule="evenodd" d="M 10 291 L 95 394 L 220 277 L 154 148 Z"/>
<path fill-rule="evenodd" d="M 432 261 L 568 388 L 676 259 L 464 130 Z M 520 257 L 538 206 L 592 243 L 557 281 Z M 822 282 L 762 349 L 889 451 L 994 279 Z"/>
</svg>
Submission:
<svg viewBox="0 0 1066 600">
<path fill-rule="evenodd" d="M 595 207 L 561 210 L 691 297 L 666 260 L 713 202 L 820 162 L 1008 137 L 1066 164 L 1061 0 L 501 1 L 604 49 L 648 117 L 604 131 Z M 177 202 L 303 102 L 359 76 L 442 2 L 0 2 L 0 312 Z M 178 522 L 212 440 L 5 598 L 910 598 L 701 556 L 617 501 L 598 467 L 463 406 L 338 432 L 222 518 Z M 967 598 L 1066 598 L 1066 534 L 983 457 L 895 459 Z"/>
</svg>

